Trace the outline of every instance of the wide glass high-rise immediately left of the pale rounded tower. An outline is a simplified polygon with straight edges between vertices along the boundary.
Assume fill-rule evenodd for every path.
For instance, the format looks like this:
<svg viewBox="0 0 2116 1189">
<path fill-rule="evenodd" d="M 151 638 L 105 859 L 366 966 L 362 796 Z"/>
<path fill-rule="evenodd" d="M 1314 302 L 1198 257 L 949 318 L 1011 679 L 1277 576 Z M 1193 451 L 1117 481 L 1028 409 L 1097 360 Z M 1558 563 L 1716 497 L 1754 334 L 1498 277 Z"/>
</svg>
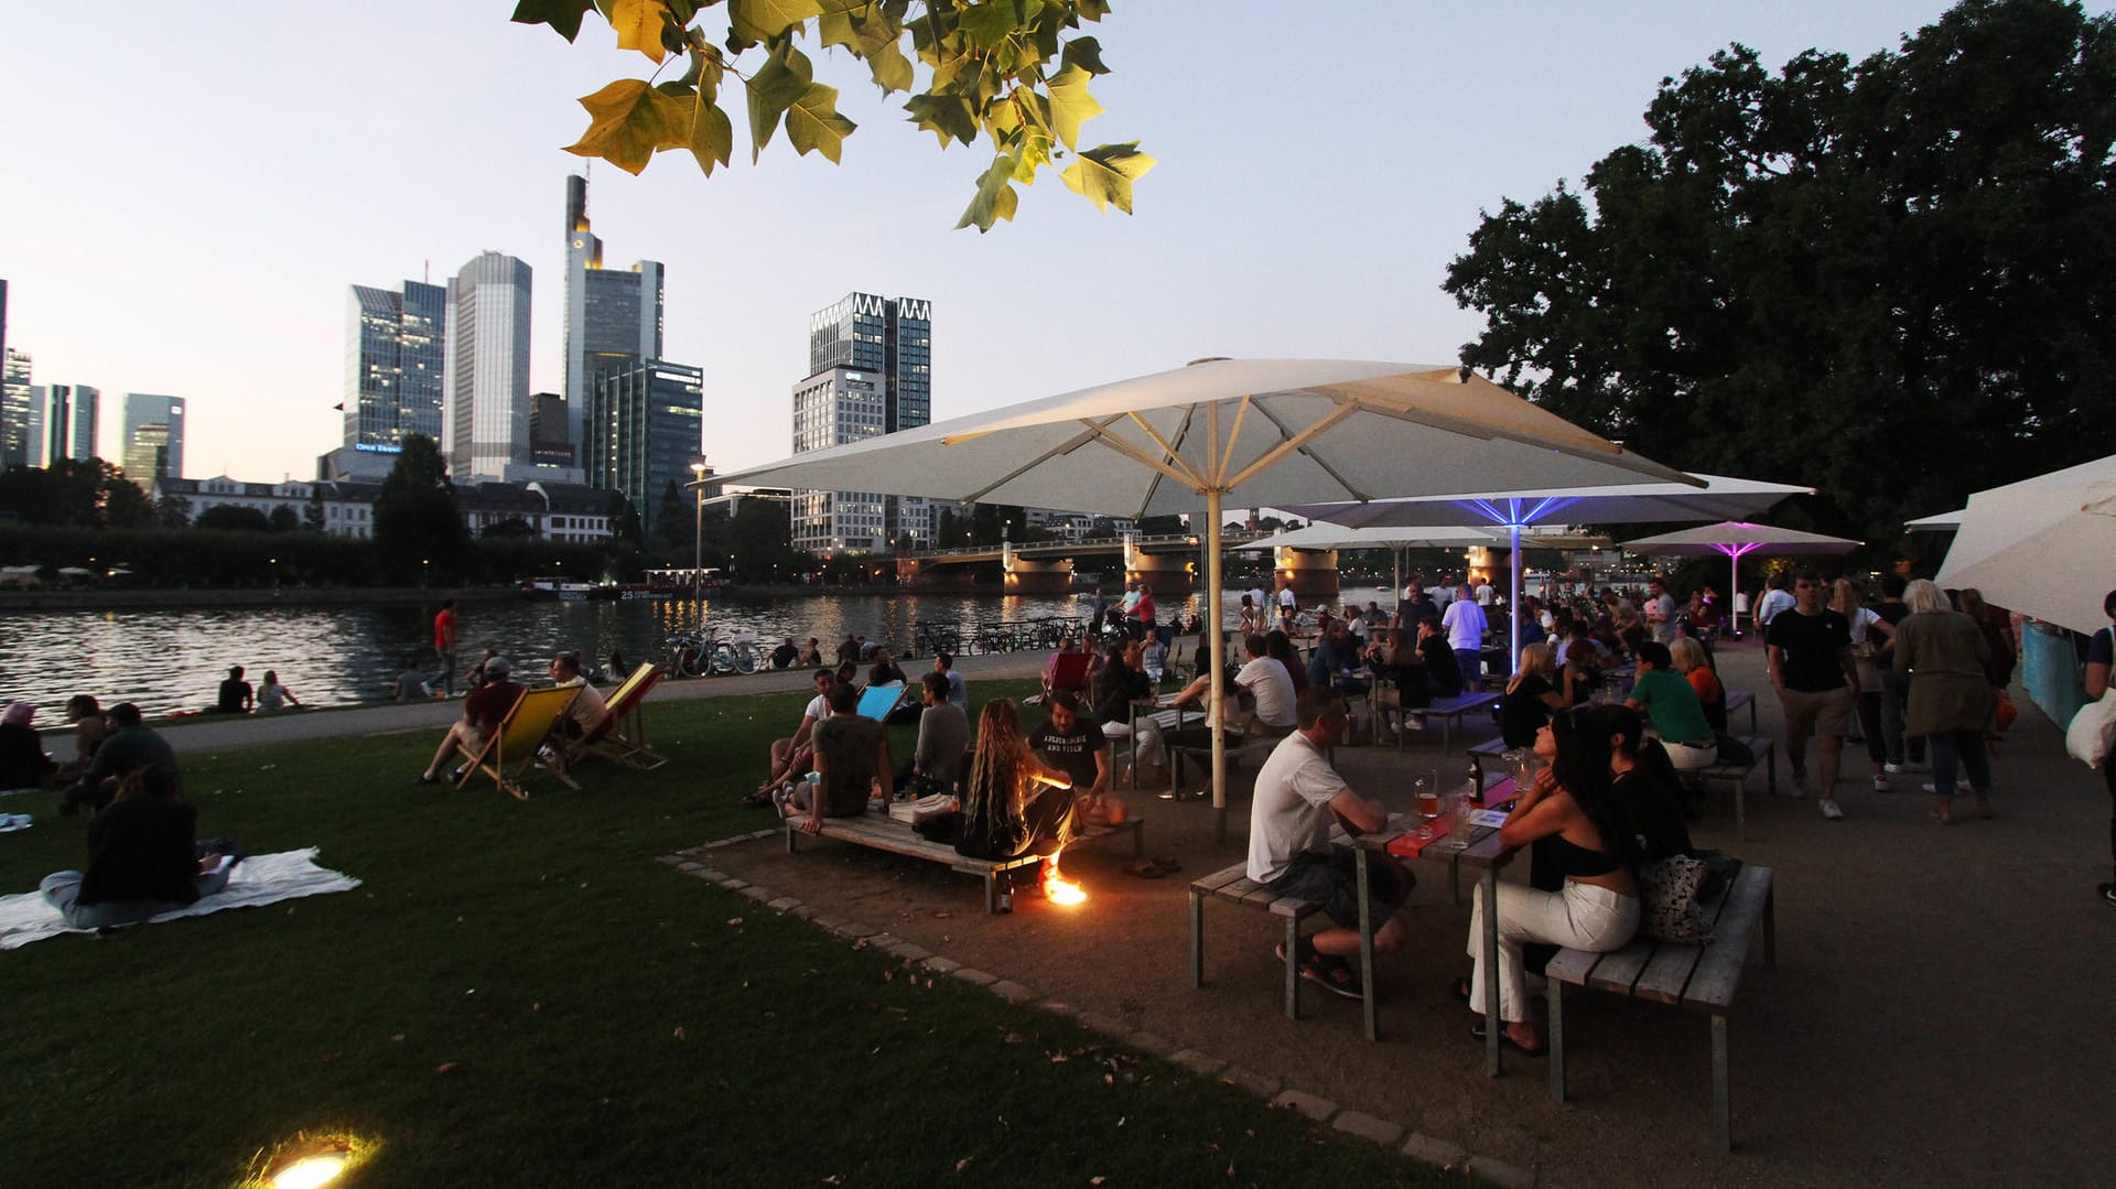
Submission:
<svg viewBox="0 0 2116 1189">
<path fill-rule="evenodd" d="M 394 455 L 404 438 L 442 440 L 449 290 L 347 286 L 345 446 Z"/>
</svg>

